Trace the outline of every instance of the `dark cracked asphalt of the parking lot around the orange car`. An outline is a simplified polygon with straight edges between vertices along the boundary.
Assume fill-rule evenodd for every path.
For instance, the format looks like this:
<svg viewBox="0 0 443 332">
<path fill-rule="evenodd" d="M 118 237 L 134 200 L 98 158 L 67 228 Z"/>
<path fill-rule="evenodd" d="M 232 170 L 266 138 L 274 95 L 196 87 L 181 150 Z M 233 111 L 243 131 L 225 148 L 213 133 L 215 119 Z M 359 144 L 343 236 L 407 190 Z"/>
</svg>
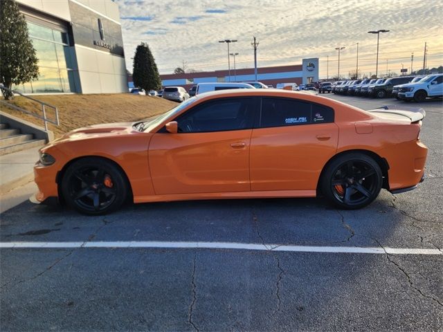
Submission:
<svg viewBox="0 0 443 332">
<path fill-rule="evenodd" d="M 442 331 L 443 105 L 404 106 L 426 110 L 426 180 L 404 194 L 382 190 L 362 210 L 252 199 L 129 205 L 96 217 L 28 202 L 4 212 L 0 243 L 80 244 L 0 249 L 1 331 Z M 219 248 L 197 248 L 203 242 Z"/>
</svg>

